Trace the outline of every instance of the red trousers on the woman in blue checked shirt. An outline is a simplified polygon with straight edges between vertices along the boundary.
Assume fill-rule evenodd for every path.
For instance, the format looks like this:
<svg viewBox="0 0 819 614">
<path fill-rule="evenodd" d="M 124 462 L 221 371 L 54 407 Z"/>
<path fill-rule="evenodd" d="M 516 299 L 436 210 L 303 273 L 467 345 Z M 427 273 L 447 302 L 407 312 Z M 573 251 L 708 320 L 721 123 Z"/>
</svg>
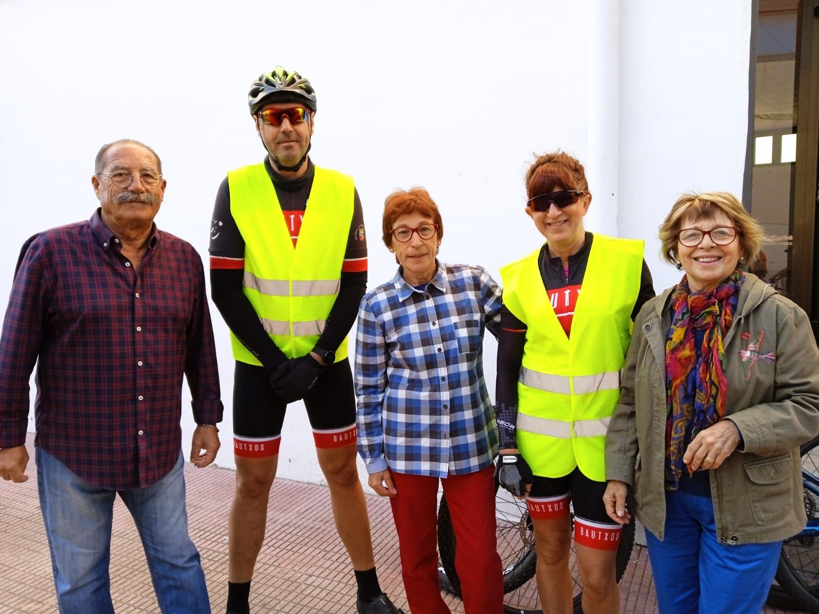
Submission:
<svg viewBox="0 0 819 614">
<path fill-rule="evenodd" d="M 490 465 L 441 480 L 455 530 L 458 571 L 467 614 L 503 612 L 504 580 L 495 543 L 495 482 Z M 401 576 L 413 614 L 449 614 L 438 582 L 438 478 L 392 472 Z"/>
</svg>

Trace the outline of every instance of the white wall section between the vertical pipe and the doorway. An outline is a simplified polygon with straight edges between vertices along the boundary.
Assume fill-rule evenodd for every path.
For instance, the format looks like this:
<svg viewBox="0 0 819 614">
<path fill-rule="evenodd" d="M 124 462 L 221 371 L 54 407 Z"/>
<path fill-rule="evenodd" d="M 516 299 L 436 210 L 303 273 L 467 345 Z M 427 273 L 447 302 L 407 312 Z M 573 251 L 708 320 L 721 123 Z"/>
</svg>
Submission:
<svg viewBox="0 0 819 614">
<path fill-rule="evenodd" d="M 622 0 L 618 230 L 645 238 L 657 291 L 682 276 L 658 258 L 677 197 L 742 197 L 751 4 Z"/>
</svg>

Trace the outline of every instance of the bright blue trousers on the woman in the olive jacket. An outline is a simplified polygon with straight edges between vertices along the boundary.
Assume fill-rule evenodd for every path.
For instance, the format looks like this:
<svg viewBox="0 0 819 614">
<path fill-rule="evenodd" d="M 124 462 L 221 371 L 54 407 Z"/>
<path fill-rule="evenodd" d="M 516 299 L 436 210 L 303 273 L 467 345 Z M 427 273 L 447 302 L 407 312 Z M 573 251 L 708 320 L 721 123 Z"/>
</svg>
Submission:
<svg viewBox="0 0 819 614">
<path fill-rule="evenodd" d="M 665 540 L 645 531 L 660 614 L 762 612 L 782 542 L 721 544 L 699 494 L 667 490 L 666 510 Z"/>
</svg>

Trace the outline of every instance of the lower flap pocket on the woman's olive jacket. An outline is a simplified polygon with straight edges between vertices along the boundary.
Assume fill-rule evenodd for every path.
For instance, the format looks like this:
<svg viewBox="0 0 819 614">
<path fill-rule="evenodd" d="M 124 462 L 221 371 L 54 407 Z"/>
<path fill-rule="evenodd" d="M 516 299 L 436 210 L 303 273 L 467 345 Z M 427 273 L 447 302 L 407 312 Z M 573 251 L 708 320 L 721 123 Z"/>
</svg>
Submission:
<svg viewBox="0 0 819 614">
<path fill-rule="evenodd" d="M 790 512 L 793 500 L 793 458 L 790 453 L 744 463 L 748 475 L 748 499 L 758 525 L 781 521 Z"/>
</svg>

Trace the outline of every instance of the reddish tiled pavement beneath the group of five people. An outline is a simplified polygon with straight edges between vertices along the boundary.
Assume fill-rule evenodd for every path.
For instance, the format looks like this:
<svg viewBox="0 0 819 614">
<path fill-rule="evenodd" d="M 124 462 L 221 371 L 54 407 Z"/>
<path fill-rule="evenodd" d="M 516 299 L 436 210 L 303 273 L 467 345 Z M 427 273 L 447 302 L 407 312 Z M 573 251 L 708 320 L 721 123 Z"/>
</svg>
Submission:
<svg viewBox="0 0 819 614">
<path fill-rule="evenodd" d="M 57 612 L 48 545 L 38 509 L 36 469 L 29 436 L 29 481 L 0 481 L 0 614 Z M 213 611 L 224 612 L 228 573 L 227 513 L 233 472 L 185 467 L 191 534 L 201 552 Z M 386 500 L 368 497 L 382 588 L 406 607 L 396 532 Z M 337 538 L 323 486 L 279 480 L 270 497 L 265 547 L 253 583 L 253 612 L 355 612 L 355 580 Z M 111 593 L 120 614 L 158 612 L 133 521 L 117 500 L 111 540 Z M 621 612 L 657 612 L 645 549 L 635 547 L 621 582 Z M 452 612 L 464 612 L 446 596 Z M 769 614 L 786 611 L 767 607 Z M 93 613 L 91 613 L 93 614 Z"/>
</svg>

